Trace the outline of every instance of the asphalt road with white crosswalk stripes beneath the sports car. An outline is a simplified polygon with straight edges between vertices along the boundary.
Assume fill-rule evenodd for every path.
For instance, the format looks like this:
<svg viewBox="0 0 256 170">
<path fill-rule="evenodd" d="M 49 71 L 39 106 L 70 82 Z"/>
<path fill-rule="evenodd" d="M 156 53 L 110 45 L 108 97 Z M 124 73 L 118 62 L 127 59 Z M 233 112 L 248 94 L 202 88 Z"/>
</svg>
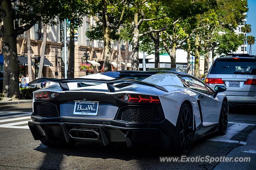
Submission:
<svg viewBox="0 0 256 170">
<path fill-rule="evenodd" d="M 40 141 L 33 139 L 26 124 L 30 120 L 29 115 L 6 117 L 18 114 L 29 114 L 31 104 L 19 104 L 18 106 L 0 106 L 0 169 L 24 170 L 24 169 L 172 169 L 172 170 L 201 170 L 201 169 L 230 169 L 234 162 L 222 164 L 219 162 L 160 162 L 159 156 L 171 156 L 171 153 L 159 148 L 126 148 L 124 146 L 95 146 L 92 144 L 77 143 L 73 148 L 48 148 Z M 5 114 L 5 115 L 4 115 Z M 22 118 L 6 122 L 6 119 Z M 228 133 L 234 131 L 232 127 L 243 127 L 232 135 L 229 141 L 225 136 L 210 135 L 195 142 L 189 154 L 192 156 L 226 156 L 234 153 L 236 156 L 244 156 L 247 152 L 240 152 L 240 148 L 249 145 L 250 135 L 256 126 L 256 110 L 251 107 L 233 107 L 230 109 Z M 15 124 L 16 123 L 16 124 Z M 8 127 L 6 124 L 9 124 Z M 11 126 L 11 128 L 10 128 Z M 16 126 L 16 127 L 14 127 Z M 233 130 L 233 131 L 232 131 Z M 249 137 L 248 137 L 249 136 Z M 252 137 L 254 139 L 254 137 Z M 250 140 L 250 141 L 248 141 Z M 238 141 L 240 144 L 232 141 Z M 253 149 L 256 151 L 256 141 Z M 241 144 L 242 143 L 242 144 Z M 248 144 L 246 144 L 248 143 Z M 252 150 L 253 150 L 252 149 Z M 236 152 L 235 152 L 236 151 Z M 243 153 L 243 154 L 242 154 Z M 249 153 L 248 153 L 249 154 Z M 247 155 L 248 155 L 247 154 Z M 254 155 L 250 153 L 252 162 L 256 162 Z M 251 162 L 251 163 L 252 163 Z M 243 164 L 237 162 L 239 167 Z M 229 167 L 229 168 L 228 168 Z M 255 169 L 253 166 L 252 169 Z M 236 169 L 236 168 L 235 168 Z M 245 169 L 250 169 L 250 166 Z M 233 168 L 234 170 L 234 168 Z"/>
</svg>

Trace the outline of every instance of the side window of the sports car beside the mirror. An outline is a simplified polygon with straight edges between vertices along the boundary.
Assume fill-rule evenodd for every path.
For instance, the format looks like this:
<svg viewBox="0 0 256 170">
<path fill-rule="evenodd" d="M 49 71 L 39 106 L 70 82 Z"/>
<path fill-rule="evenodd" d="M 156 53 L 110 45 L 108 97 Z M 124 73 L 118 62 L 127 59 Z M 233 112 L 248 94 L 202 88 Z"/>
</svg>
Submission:
<svg viewBox="0 0 256 170">
<path fill-rule="evenodd" d="M 184 79 L 184 81 L 186 83 L 188 83 L 189 87 L 192 90 L 196 90 L 197 92 L 211 95 L 210 92 L 208 91 L 207 87 L 202 82 L 200 82 L 194 78 L 191 78 L 191 77 L 183 76 L 182 78 Z"/>
</svg>

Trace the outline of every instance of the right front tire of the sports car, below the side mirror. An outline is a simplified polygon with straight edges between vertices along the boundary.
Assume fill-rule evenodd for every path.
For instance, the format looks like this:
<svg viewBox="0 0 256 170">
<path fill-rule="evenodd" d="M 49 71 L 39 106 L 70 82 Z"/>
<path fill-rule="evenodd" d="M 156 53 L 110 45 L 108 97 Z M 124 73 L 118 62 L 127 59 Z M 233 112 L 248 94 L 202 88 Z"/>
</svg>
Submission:
<svg viewBox="0 0 256 170">
<path fill-rule="evenodd" d="M 224 135 L 226 133 L 227 127 L 228 127 L 228 102 L 224 100 L 220 110 L 218 134 Z"/>
</svg>

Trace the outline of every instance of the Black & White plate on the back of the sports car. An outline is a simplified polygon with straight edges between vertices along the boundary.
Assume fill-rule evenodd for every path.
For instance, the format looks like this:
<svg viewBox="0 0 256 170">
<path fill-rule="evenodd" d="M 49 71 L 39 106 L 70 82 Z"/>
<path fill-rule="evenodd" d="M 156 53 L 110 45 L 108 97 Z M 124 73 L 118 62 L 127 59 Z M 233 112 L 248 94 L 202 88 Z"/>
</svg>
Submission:
<svg viewBox="0 0 256 170">
<path fill-rule="evenodd" d="M 98 102 L 75 102 L 74 114 L 97 116 Z"/>
</svg>

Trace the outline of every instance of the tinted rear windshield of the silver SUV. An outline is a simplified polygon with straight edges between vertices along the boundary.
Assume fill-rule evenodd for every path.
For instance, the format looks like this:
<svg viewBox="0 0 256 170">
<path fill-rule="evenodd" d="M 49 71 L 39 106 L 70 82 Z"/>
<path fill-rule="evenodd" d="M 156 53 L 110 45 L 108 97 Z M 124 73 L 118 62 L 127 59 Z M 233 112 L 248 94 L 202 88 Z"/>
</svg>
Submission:
<svg viewBox="0 0 256 170">
<path fill-rule="evenodd" d="M 256 75 L 256 59 L 240 58 L 230 59 L 221 58 L 216 60 L 210 74 L 253 74 Z"/>
</svg>

